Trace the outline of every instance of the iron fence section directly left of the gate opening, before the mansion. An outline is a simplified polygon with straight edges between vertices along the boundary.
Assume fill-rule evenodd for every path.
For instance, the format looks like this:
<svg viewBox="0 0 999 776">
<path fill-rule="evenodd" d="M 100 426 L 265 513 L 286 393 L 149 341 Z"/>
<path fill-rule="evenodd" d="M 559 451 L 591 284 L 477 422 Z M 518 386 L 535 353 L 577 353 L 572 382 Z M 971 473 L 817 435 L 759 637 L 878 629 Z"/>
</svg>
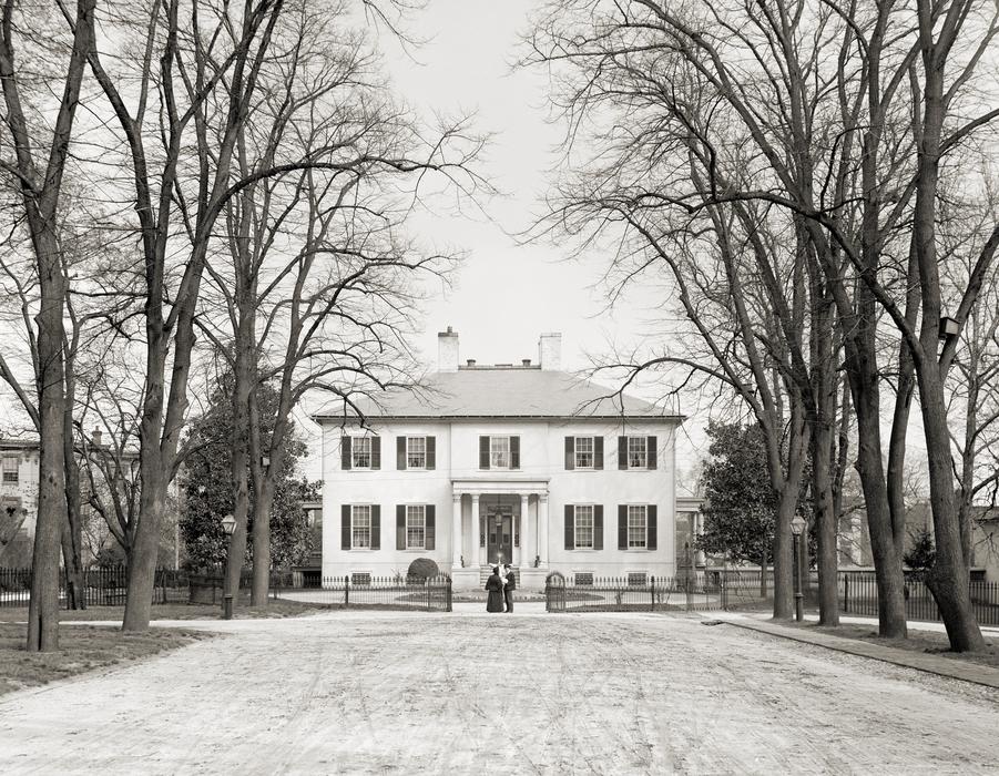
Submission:
<svg viewBox="0 0 999 776">
<path fill-rule="evenodd" d="M 318 588 L 284 588 L 275 598 L 303 601 L 343 609 L 415 609 L 450 612 L 451 578 L 446 574 L 429 579 L 402 576 L 351 580 L 350 576 L 324 578 Z"/>
</svg>

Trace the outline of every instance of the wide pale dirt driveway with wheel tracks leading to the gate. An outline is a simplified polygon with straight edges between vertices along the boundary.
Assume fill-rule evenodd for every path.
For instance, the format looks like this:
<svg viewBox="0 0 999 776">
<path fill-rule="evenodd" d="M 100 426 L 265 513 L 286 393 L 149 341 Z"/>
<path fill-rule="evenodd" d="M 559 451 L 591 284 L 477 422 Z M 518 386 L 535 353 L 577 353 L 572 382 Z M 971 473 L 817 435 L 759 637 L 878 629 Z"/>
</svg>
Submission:
<svg viewBox="0 0 999 776">
<path fill-rule="evenodd" d="M 0 773 L 995 773 L 986 688 L 695 617 L 337 612 L 0 701 Z M 191 626 L 191 622 L 185 623 Z"/>
</svg>

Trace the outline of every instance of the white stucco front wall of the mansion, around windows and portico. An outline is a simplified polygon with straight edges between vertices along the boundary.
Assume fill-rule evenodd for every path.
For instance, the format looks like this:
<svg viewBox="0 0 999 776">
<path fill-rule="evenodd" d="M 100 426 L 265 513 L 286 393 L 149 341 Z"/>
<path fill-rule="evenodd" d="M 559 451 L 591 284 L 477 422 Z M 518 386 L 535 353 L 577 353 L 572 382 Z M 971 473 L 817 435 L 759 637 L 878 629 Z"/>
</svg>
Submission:
<svg viewBox="0 0 999 776">
<path fill-rule="evenodd" d="M 477 422 L 398 422 L 373 427 L 381 438 L 381 468 L 377 471 L 340 468 L 340 440 L 345 432 L 338 425 L 323 428 L 323 576 L 344 576 L 369 572 L 390 576 L 406 572 L 419 557 L 434 559 L 441 571 L 452 571 L 452 480 L 489 483 L 511 480 L 548 481 L 548 559 L 549 569 L 567 575 L 592 572 L 597 576 L 620 576 L 628 572 L 672 575 L 675 572 L 674 447 L 676 426 L 672 422 L 640 422 L 622 427 L 620 422 L 548 421 L 477 421 Z M 360 433 L 357 428 L 348 435 Z M 479 437 L 510 435 L 520 437 L 520 469 L 480 470 Z M 653 470 L 618 469 L 619 436 L 655 436 L 656 462 Z M 396 438 L 399 436 L 435 436 L 436 468 L 432 471 L 396 469 Z M 567 470 L 567 436 L 602 436 L 602 470 Z M 342 507 L 354 503 L 378 503 L 381 508 L 379 550 L 343 550 L 340 547 Z M 436 506 L 436 544 L 434 550 L 396 550 L 395 508 L 406 503 Z M 600 503 L 604 508 L 603 550 L 567 550 L 564 547 L 565 504 Z M 657 544 L 655 550 L 618 550 L 618 506 L 655 504 L 657 508 Z M 467 565 L 478 565 L 478 527 L 472 525 L 470 497 L 461 502 L 463 544 L 459 554 Z M 543 509 L 541 510 L 543 512 Z M 520 527 L 521 539 L 540 540 L 539 504 L 529 507 L 530 525 Z M 533 558 L 539 548 L 521 541 L 521 565 Z"/>
</svg>

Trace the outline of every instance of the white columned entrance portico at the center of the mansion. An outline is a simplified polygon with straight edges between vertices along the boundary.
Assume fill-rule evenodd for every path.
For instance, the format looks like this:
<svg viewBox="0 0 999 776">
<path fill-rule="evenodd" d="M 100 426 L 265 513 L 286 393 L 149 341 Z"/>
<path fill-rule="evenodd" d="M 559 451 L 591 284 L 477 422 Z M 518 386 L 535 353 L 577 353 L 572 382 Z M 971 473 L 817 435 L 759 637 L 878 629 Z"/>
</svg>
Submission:
<svg viewBox="0 0 999 776">
<path fill-rule="evenodd" d="M 519 569 L 521 584 L 548 573 L 547 479 L 451 480 L 451 574 L 457 588 L 478 588 L 497 563 Z"/>
</svg>

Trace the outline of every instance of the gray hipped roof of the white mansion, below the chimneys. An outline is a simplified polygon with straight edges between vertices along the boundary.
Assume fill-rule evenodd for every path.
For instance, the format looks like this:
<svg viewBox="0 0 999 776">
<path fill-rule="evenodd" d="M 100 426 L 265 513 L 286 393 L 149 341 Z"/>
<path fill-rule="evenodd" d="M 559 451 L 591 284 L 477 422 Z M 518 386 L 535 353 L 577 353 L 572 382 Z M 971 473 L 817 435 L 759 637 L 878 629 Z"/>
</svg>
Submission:
<svg viewBox="0 0 999 776">
<path fill-rule="evenodd" d="M 358 402 L 368 418 L 479 419 L 579 418 L 657 420 L 679 422 L 682 416 L 614 389 L 563 371 L 537 367 L 462 367 L 428 375 L 416 390 L 386 391 L 377 405 Z M 313 418 L 339 422 L 343 404 L 320 407 Z"/>
</svg>

